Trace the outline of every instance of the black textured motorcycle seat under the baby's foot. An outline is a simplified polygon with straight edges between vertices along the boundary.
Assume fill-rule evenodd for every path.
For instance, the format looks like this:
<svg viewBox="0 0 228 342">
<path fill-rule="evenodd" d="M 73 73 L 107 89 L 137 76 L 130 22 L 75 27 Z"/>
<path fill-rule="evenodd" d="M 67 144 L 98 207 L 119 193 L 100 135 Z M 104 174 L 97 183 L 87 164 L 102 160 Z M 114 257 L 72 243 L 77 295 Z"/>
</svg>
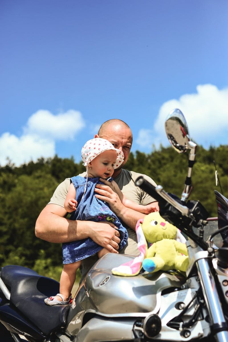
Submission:
<svg viewBox="0 0 228 342">
<path fill-rule="evenodd" d="M 59 282 L 15 265 L 4 266 L 0 278 L 10 291 L 10 303 L 17 313 L 22 313 L 46 336 L 65 326 L 70 305 L 49 306 L 44 303 L 46 297 L 59 292 Z"/>
</svg>

